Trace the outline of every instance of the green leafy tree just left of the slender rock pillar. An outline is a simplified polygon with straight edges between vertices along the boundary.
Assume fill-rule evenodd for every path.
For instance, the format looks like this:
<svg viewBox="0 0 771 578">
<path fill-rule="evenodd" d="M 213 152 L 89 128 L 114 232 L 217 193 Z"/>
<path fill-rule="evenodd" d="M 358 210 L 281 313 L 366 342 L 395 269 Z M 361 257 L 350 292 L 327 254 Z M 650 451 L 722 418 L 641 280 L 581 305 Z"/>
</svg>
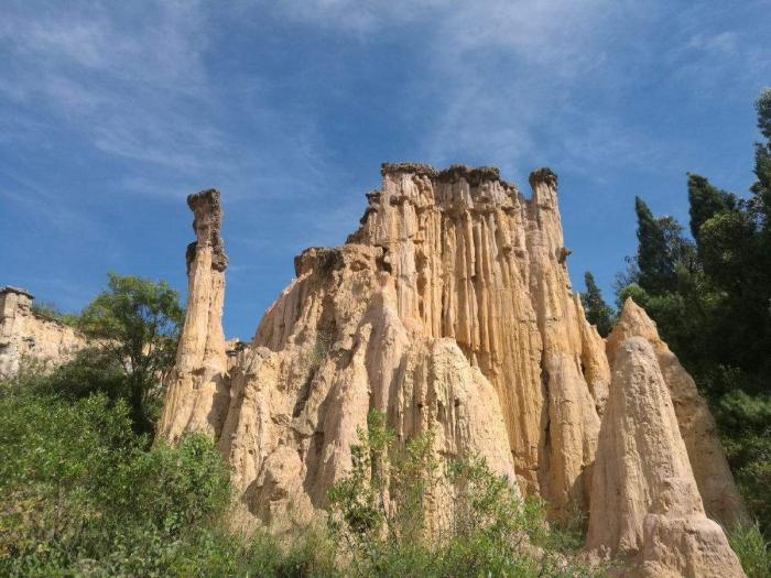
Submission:
<svg viewBox="0 0 771 578">
<path fill-rule="evenodd" d="M 120 366 L 139 432 L 153 429 L 163 374 L 172 367 L 183 320 L 178 294 L 163 281 L 108 274 L 108 288 L 83 310 L 82 330 Z"/>
</svg>

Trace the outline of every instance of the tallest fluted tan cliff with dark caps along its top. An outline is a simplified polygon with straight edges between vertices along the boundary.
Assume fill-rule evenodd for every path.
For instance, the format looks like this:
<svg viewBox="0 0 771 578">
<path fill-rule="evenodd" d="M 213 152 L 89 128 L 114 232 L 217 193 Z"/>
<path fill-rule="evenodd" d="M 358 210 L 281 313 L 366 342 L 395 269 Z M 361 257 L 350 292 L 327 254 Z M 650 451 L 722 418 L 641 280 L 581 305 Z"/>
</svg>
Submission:
<svg viewBox="0 0 771 578">
<path fill-rule="evenodd" d="M 556 513 L 585 504 L 609 371 L 571 291 L 556 176 L 535 171 L 526 200 L 492 167 L 382 175 L 349 243 L 381 248 L 399 317 L 492 383 L 523 489 Z"/>
</svg>

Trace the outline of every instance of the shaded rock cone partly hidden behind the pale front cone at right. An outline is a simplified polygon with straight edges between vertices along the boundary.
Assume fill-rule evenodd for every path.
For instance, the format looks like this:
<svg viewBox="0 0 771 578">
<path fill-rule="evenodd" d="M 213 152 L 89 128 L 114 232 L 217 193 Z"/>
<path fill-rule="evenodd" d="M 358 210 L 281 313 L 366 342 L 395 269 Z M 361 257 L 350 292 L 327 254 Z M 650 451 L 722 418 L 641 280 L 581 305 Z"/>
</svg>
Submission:
<svg viewBox="0 0 771 578">
<path fill-rule="evenodd" d="M 634 336 L 644 338 L 655 352 L 707 515 L 728 527 L 739 520 L 747 520 L 747 512 L 728 468 L 707 403 L 677 357 L 659 337 L 655 323 L 629 297 L 616 327 L 608 336 L 607 353 L 610 363 L 615 362 L 619 345 Z"/>
</svg>

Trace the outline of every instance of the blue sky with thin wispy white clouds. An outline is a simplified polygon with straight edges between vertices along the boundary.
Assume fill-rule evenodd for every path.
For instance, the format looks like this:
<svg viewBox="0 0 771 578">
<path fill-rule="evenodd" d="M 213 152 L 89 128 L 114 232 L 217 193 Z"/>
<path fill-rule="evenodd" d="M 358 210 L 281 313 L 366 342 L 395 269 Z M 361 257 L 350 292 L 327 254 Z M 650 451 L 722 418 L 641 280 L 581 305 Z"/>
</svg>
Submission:
<svg viewBox="0 0 771 578">
<path fill-rule="evenodd" d="M 228 336 L 383 161 L 560 175 L 572 277 L 606 293 L 633 197 L 746 192 L 771 2 L 294 0 L 0 6 L 0 284 L 76 310 L 115 270 L 185 291 L 184 199 L 222 192 Z M 610 301 L 611 295 L 606 295 Z"/>
</svg>

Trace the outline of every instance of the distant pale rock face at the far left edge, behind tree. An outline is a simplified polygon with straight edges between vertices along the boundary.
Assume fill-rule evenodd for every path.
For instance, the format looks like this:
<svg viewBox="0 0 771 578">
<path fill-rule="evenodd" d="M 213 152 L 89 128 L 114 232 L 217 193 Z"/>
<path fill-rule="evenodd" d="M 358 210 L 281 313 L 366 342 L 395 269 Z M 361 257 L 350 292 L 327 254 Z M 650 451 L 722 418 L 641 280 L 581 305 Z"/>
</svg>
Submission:
<svg viewBox="0 0 771 578">
<path fill-rule="evenodd" d="M 34 297 L 18 287 L 0 287 L 0 379 L 14 375 L 24 359 L 51 368 L 72 359 L 86 338 L 32 309 Z"/>
</svg>

